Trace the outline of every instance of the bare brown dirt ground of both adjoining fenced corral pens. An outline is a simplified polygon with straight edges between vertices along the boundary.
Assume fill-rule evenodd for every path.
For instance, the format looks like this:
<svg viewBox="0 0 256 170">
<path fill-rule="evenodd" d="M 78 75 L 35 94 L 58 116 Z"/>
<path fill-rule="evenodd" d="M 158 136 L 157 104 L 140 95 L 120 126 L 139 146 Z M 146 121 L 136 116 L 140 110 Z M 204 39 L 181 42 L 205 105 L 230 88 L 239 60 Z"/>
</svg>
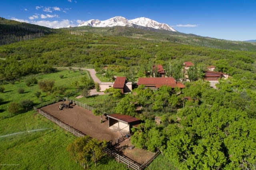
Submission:
<svg viewBox="0 0 256 170">
<path fill-rule="evenodd" d="M 62 103 L 63 102 L 54 103 L 42 107 L 41 109 L 84 134 L 88 134 L 92 138 L 114 141 L 115 138 L 121 136 L 119 131 L 111 130 L 108 127 L 108 121 L 106 121 L 105 117 L 102 118 L 103 123 L 100 123 L 101 116 L 95 116 L 88 109 L 77 105 L 71 106 L 72 108 L 59 110 L 58 105 Z M 68 104 L 68 102 L 66 101 L 65 104 Z M 147 150 L 139 148 L 131 149 L 130 146 L 132 146 L 131 141 L 126 139 L 115 145 L 114 149 L 116 152 L 123 155 L 123 157 L 138 165 L 142 165 L 154 155 L 154 153 Z"/>
</svg>

